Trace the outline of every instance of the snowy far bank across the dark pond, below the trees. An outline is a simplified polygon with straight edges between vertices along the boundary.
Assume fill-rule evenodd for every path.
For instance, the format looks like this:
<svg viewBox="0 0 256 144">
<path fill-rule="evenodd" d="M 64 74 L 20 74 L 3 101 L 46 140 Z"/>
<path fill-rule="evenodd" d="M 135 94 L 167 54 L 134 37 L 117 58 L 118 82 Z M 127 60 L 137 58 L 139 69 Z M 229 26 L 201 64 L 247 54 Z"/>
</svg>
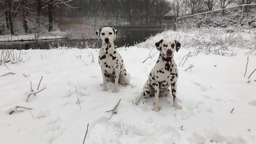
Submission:
<svg viewBox="0 0 256 144">
<path fill-rule="evenodd" d="M 47 39 L 62 39 L 66 37 L 65 32 L 61 31 L 53 31 L 48 32 L 46 34 L 40 35 L 38 37 L 38 40 L 47 40 Z M 0 42 L 4 41 L 27 41 L 27 40 L 35 40 L 35 34 L 27 34 L 27 35 L 18 35 L 18 36 L 12 36 L 12 35 L 0 35 Z"/>
</svg>

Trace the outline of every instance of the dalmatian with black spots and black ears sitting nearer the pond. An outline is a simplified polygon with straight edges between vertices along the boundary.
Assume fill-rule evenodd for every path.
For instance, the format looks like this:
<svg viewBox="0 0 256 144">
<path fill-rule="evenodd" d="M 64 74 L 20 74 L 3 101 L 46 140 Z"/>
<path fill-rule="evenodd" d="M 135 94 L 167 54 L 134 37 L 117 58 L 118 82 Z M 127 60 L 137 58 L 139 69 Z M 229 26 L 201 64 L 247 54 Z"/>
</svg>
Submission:
<svg viewBox="0 0 256 144">
<path fill-rule="evenodd" d="M 103 91 L 108 91 L 107 83 L 114 83 L 114 93 L 118 92 L 118 83 L 130 85 L 130 74 L 126 72 L 123 59 L 118 53 L 114 40 L 117 30 L 111 27 L 104 27 L 96 31 L 98 40 L 102 40 L 102 47 L 99 51 L 99 65 L 103 77 Z"/>
</svg>

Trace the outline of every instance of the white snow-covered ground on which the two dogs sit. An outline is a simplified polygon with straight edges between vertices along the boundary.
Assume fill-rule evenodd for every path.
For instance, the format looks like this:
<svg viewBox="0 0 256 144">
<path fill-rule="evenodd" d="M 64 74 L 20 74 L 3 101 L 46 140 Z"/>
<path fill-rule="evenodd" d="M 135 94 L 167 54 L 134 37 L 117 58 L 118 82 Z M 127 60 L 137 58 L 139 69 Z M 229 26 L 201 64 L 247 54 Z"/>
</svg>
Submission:
<svg viewBox="0 0 256 144">
<path fill-rule="evenodd" d="M 213 36 L 215 39 L 225 37 L 225 32 L 218 32 L 218 36 Z M 132 86 L 119 85 L 118 93 L 112 93 L 111 83 L 108 92 L 101 91 L 96 49 L 27 50 L 26 55 L 21 54 L 24 63 L 6 64 L 16 74 L 0 77 L 0 144 L 82 143 L 88 123 L 86 144 L 255 144 L 256 73 L 248 77 L 256 68 L 256 55 L 245 55 L 251 51 L 245 45 L 239 49 L 240 42 L 246 40 L 246 47 L 254 46 L 253 32 L 235 33 L 243 39 L 222 46 L 234 50 L 232 54 L 238 50 L 236 55 L 206 55 L 206 49 L 188 57 L 183 67 L 182 61 L 177 89 L 181 110 L 174 109 L 171 97 L 160 98 L 159 112 L 153 111 L 153 98 L 144 99 L 146 102 L 139 106 L 132 104 L 156 63 L 158 53 L 155 55 L 155 49 L 151 51 L 156 41 L 181 35 L 177 39 L 183 45 L 174 56 L 179 64 L 189 51 L 191 55 L 195 53 L 195 41 L 205 43 L 202 47 L 210 47 L 207 42 L 211 41 L 212 47 L 221 47 L 222 44 L 211 40 L 211 34 L 214 32 L 166 31 L 133 47 L 119 48 Z M 230 52 L 220 49 L 223 51 Z M 149 54 L 152 58 L 142 63 Z M 195 67 L 184 71 L 190 64 Z M 0 75 L 8 72 L 5 66 L 0 66 Z M 45 85 L 47 88 L 25 102 L 30 81 L 36 91 L 41 76 L 39 89 Z M 247 83 L 248 80 L 251 82 Z M 77 104 L 74 84 L 82 110 Z M 111 112 L 105 111 L 113 109 L 119 99 L 118 112 L 108 120 Z M 9 115 L 15 106 L 32 110 L 18 109 L 24 112 Z"/>
</svg>

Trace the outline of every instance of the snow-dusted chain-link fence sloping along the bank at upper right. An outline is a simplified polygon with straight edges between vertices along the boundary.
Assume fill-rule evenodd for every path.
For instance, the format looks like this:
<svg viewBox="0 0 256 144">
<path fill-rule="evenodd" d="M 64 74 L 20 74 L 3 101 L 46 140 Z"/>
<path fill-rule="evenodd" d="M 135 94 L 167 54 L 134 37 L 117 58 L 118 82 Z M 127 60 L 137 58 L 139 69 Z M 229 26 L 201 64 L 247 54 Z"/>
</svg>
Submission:
<svg viewBox="0 0 256 144">
<path fill-rule="evenodd" d="M 176 27 L 228 27 L 248 25 L 256 28 L 256 4 L 244 4 L 177 18 Z"/>
</svg>

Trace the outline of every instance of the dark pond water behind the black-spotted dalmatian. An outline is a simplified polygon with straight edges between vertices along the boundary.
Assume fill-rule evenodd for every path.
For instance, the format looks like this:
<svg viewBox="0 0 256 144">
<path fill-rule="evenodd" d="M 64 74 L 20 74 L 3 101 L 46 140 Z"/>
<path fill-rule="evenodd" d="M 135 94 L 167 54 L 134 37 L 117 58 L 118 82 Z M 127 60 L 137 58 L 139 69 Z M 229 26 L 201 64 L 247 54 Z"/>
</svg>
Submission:
<svg viewBox="0 0 256 144">
<path fill-rule="evenodd" d="M 120 37 L 115 40 L 115 45 L 120 46 L 132 46 L 134 43 L 136 44 L 142 41 L 145 41 L 146 38 L 155 35 L 164 31 L 164 28 L 161 27 L 115 27 L 118 30 L 117 35 Z M 96 34 L 95 34 L 96 38 Z M 82 45 L 82 43 L 83 45 Z M 14 42 L 17 45 L 17 49 L 49 49 L 49 44 L 57 47 L 58 44 L 60 46 L 66 47 L 75 47 L 77 45 L 78 48 L 85 48 L 85 43 L 92 48 L 95 43 L 95 47 L 101 47 L 101 41 L 99 40 L 66 40 L 66 39 L 54 39 L 54 40 L 40 40 L 38 44 L 34 41 L 19 41 Z M 1 48 L 0 48 L 1 49 Z"/>
</svg>

